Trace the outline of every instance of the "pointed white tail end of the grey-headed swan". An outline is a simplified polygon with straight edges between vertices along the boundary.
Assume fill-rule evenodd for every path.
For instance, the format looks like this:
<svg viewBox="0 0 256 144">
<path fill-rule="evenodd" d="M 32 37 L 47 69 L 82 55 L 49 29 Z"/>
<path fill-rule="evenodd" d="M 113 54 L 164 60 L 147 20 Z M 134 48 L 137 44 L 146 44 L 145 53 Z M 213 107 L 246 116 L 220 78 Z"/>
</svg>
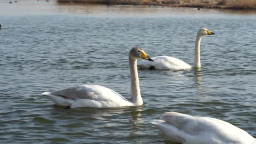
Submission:
<svg viewBox="0 0 256 144">
<path fill-rule="evenodd" d="M 50 98 L 56 105 L 59 106 L 71 106 L 71 99 L 63 98 L 58 95 L 52 95 L 50 92 L 43 92 L 43 95 L 46 95 L 48 98 Z"/>
</svg>

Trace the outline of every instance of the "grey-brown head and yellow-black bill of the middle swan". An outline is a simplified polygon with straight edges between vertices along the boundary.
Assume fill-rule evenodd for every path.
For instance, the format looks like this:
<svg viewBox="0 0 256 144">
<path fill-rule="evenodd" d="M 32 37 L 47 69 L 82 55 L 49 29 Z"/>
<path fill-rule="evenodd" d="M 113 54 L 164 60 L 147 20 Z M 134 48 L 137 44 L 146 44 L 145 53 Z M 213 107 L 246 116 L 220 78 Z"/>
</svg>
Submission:
<svg viewBox="0 0 256 144">
<path fill-rule="evenodd" d="M 129 57 L 132 59 L 145 59 L 153 61 L 153 59 L 149 58 L 147 53 L 144 52 L 140 47 L 133 47 L 129 52 Z"/>
</svg>

